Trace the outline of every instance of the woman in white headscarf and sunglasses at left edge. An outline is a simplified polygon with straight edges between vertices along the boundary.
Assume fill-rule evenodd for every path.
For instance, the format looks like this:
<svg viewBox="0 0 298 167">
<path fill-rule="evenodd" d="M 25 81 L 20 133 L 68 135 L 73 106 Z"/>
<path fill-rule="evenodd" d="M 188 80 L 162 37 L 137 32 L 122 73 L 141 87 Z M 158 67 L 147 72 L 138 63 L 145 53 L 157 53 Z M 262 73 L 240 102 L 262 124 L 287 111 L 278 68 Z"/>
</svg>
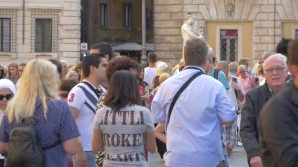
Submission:
<svg viewBox="0 0 298 167">
<path fill-rule="evenodd" d="M 16 94 L 16 86 L 8 79 L 0 80 L 0 122 L 2 121 L 7 103 Z M 0 167 L 4 167 L 4 157 L 0 156 Z"/>
</svg>

